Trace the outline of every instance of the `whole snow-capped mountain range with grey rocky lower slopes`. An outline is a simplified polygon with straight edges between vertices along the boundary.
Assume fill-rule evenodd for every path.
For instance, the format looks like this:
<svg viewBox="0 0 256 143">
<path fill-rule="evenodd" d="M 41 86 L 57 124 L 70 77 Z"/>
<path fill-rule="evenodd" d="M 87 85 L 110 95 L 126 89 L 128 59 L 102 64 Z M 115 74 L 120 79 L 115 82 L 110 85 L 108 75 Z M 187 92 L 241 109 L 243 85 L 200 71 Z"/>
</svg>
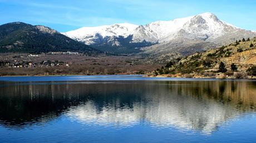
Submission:
<svg viewBox="0 0 256 143">
<path fill-rule="evenodd" d="M 171 49 L 170 47 L 174 45 L 178 47 L 183 45 L 185 48 L 186 43 L 191 45 L 191 43 L 203 42 L 215 48 L 217 45 L 256 35 L 255 32 L 221 21 L 212 13 L 172 21 L 157 21 L 146 25 L 121 23 L 100 27 L 82 27 L 62 34 L 94 47 L 134 49 L 153 45 L 144 50 L 154 51 L 152 49 L 156 47 L 157 50 L 161 50 L 164 47 L 165 53 L 170 52 L 168 47 Z M 184 48 L 182 49 L 185 50 Z"/>
</svg>

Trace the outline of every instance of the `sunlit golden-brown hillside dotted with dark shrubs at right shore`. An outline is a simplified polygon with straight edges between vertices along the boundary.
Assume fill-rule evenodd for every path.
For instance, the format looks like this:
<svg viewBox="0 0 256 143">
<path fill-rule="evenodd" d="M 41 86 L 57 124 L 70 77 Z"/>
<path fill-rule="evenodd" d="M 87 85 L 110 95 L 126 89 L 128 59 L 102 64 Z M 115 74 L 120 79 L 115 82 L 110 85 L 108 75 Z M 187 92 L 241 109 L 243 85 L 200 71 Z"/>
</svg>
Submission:
<svg viewBox="0 0 256 143">
<path fill-rule="evenodd" d="M 183 77 L 248 78 L 256 76 L 256 37 L 171 60 L 151 74 Z"/>
</svg>

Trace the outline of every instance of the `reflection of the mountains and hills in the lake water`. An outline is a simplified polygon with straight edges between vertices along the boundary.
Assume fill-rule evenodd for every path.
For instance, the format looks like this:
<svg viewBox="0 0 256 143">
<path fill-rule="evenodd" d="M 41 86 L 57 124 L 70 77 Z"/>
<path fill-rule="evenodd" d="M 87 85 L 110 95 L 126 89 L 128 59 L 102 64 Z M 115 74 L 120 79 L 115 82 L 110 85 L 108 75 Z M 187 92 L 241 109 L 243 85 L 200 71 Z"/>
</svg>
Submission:
<svg viewBox="0 0 256 143">
<path fill-rule="evenodd" d="M 256 106 L 255 81 L 2 82 L 0 124 L 12 129 L 65 116 L 85 125 L 211 134 Z"/>
</svg>

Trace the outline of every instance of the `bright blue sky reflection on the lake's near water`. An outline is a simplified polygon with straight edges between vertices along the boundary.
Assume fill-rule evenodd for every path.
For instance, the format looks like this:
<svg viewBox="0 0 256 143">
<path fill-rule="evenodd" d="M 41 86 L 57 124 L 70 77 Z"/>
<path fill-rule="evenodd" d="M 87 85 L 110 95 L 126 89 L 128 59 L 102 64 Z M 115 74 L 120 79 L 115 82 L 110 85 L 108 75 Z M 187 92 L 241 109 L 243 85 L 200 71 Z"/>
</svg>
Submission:
<svg viewBox="0 0 256 143">
<path fill-rule="evenodd" d="M 66 115 L 41 126 L 23 130 L 0 127 L 1 142 L 254 142 L 254 114 L 245 114 L 218 127 L 213 134 L 201 134 L 175 127 L 157 128 L 147 122 L 128 127 L 81 124 Z"/>
</svg>

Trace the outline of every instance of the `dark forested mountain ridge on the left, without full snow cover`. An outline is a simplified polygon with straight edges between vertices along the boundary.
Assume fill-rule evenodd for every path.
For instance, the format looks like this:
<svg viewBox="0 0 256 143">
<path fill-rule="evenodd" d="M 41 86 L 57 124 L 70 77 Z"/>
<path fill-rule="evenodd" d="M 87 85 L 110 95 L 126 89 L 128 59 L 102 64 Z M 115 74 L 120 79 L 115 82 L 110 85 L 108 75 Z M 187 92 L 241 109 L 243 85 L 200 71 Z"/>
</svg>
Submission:
<svg viewBox="0 0 256 143">
<path fill-rule="evenodd" d="M 0 52 L 81 52 L 100 53 L 43 25 L 12 22 L 0 25 Z"/>
</svg>

